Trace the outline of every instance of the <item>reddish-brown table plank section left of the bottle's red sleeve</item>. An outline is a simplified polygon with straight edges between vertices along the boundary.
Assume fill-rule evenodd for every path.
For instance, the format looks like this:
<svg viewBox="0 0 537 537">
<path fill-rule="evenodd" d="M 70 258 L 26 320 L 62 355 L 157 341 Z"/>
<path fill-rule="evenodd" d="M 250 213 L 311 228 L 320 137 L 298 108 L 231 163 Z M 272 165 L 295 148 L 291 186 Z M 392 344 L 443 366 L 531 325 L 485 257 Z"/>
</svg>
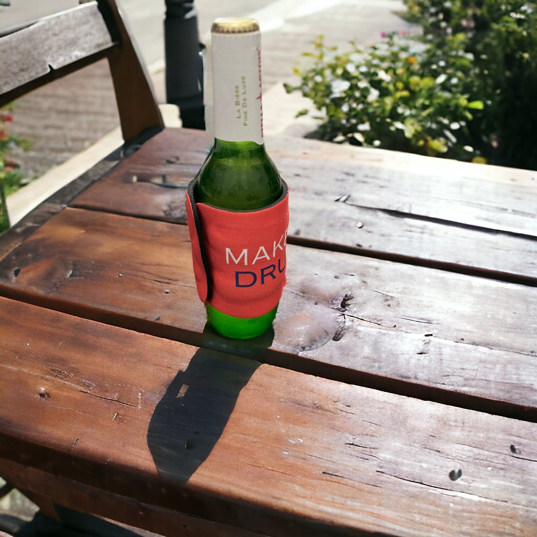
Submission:
<svg viewBox="0 0 537 537">
<path fill-rule="evenodd" d="M 74 307 L 84 296 L 82 310 L 130 315 L 144 296 L 144 320 L 201 332 L 204 307 L 186 256 L 189 241 L 185 226 L 64 209 L 6 256 L 4 277 L 9 287 Z M 185 310 L 182 302 L 196 305 Z"/>
</svg>

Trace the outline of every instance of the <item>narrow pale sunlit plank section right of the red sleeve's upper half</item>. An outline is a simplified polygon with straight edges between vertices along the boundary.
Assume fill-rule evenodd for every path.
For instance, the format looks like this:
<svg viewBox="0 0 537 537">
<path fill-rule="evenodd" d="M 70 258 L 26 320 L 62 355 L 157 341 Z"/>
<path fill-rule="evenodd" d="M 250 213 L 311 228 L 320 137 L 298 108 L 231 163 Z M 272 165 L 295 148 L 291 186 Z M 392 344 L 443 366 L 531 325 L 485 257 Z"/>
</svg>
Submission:
<svg viewBox="0 0 537 537">
<path fill-rule="evenodd" d="M 291 243 L 537 286 L 535 237 L 421 220 L 350 200 L 294 197 Z"/>
</svg>

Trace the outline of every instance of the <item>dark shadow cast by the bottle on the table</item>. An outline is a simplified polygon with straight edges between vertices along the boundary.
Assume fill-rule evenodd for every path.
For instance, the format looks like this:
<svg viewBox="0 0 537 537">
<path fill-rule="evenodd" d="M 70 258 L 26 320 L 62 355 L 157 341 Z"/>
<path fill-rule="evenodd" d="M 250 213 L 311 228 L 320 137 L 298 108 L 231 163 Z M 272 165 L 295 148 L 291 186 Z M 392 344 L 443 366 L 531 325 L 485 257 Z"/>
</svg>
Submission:
<svg viewBox="0 0 537 537">
<path fill-rule="evenodd" d="M 236 342 L 221 338 L 206 325 L 204 336 L 212 348 L 198 349 L 188 367 L 177 373 L 149 423 L 147 443 L 156 468 L 161 477 L 172 482 L 188 481 L 207 459 L 242 388 L 260 366 L 256 360 L 228 352 L 242 350 L 253 357 L 256 349 L 271 346 L 274 333 Z"/>
</svg>

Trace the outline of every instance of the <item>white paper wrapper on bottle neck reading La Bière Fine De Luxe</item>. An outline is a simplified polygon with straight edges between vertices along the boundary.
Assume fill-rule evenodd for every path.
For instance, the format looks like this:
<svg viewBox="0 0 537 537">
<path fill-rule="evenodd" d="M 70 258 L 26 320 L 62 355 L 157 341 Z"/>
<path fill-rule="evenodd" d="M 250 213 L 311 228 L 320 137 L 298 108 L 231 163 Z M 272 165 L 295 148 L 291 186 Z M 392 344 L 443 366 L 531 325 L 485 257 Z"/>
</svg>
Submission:
<svg viewBox="0 0 537 537">
<path fill-rule="evenodd" d="M 260 32 L 212 34 L 214 136 L 263 143 Z"/>
</svg>

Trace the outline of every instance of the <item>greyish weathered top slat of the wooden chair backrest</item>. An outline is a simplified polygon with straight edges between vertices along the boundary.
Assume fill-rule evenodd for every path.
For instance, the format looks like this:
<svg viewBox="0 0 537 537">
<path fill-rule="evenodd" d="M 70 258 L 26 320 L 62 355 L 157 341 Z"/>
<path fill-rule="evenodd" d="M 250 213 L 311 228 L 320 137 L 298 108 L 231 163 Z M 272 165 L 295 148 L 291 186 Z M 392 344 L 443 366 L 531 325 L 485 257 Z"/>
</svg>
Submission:
<svg viewBox="0 0 537 537">
<path fill-rule="evenodd" d="M 54 75 L 70 64 L 103 57 L 114 46 L 97 3 L 84 4 L 0 39 L 0 104 L 13 90 L 35 79 Z"/>
</svg>

